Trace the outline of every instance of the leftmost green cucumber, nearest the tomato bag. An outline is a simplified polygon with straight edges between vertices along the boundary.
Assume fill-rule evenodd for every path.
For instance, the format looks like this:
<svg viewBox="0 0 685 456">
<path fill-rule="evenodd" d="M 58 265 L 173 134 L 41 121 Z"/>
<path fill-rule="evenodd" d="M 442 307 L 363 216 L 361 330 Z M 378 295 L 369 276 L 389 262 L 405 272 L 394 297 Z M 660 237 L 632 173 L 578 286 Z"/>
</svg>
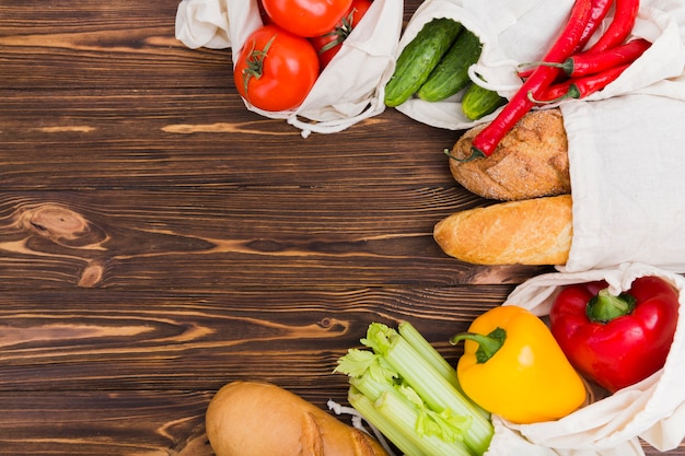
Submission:
<svg viewBox="0 0 685 456">
<path fill-rule="evenodd" d="M 395 107 L 419 90 L 462 31 L 451 19 L 433 19 L 399 52 L 395 71 L 385 85 L 385 105 Z"/>
</svg>

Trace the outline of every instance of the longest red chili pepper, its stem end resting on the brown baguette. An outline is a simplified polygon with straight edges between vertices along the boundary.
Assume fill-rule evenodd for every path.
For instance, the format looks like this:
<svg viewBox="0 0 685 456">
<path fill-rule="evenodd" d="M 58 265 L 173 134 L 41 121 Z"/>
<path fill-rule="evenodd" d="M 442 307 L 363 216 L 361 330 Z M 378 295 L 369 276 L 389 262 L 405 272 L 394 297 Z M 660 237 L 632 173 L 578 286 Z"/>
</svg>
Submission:
<svg viewBox="0 0 685 456">
<path fill-rule="evenodd" d="M 591 12 L 592 0 L 576 0 L 568 22 L 547 51 L 545 61 L 561 62 L 576 50 Z M 472 155 L 466 160 L 491 155 L 504 135 L 535 105 L 529 100 L 529 94 L 533 98 L 542 96 L 560 72 L 558 68 L 537 67 L 498 116 L 476 135 L 472 142 Z"/>
</svg>

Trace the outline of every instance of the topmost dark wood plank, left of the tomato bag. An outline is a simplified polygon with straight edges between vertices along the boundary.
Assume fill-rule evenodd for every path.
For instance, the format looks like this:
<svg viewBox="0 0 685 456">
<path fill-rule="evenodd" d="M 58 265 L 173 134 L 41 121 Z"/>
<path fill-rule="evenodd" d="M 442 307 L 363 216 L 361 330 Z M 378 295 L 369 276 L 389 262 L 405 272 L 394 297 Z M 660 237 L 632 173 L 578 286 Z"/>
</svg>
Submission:
<svg viewBox="0 0 685 456">
<path fill-rule="evenodd" d="M 174 37 L 177 1 L 8 0 L 0 4 L 0 87 L 224 86 L 230 50 Z"/>
</svg>

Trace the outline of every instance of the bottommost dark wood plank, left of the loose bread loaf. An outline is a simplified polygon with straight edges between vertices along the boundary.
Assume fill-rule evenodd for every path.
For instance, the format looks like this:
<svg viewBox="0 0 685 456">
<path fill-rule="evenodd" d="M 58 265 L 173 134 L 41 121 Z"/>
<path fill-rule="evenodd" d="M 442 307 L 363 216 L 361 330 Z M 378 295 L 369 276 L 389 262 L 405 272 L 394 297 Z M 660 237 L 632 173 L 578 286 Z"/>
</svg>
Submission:
<svg viewBox="0 0 685 456">
<path fill-rule="evenodd" d="M 0 393 L 0 455 L 210 456 L 211 394 Z"/>
</svg>

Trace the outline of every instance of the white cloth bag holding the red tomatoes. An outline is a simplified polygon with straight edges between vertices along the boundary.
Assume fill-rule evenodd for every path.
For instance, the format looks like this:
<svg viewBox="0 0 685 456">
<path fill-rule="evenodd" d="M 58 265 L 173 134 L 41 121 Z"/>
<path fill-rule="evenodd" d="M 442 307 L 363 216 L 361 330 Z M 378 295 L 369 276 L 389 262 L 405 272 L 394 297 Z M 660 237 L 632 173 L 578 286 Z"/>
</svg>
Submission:
<svg viewBox="0 0 685 456">
<path fill-rule="evenodd" d="M 244 101 L 245 106 L 265 117 L 287 119 L 304 137 L 311 131 L 341 131 L 381 114 L 385 83 L 395 68 L 403 13 L 400 0 L 374 0 L 298 108 L 266 112 Z M 237 56 L 260 25 L 257 0 L 183 0 L 176 13 L 176 38 L 190 48 L 230 47 Z"/>
</svg>

